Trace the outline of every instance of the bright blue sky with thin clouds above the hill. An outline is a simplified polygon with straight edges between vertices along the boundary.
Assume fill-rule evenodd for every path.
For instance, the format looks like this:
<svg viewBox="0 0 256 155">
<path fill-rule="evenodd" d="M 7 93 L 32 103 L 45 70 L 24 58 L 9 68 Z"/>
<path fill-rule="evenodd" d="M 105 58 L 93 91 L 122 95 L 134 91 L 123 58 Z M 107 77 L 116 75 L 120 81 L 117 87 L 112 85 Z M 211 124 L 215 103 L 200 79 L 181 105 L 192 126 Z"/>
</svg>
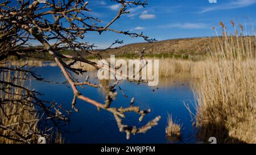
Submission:
<svg viewBox="0 0 256 155">
<path fill-rule="evenodd" d="M 108 23 L 118 12 L 117 3 L 110 0 L 89 1 L 91 15 Z M 212 27 L 220 28 L 220 21 L 230 27 L 230 20 L 237 24 L 256 24 L 256 0 L 149 0 L 146 8 L 134 6 L 130 14 L 123 15 L 111 28 L 143 32 L 157 40 L 184 37 L 214 36 Z M 229 28 L 229 30 L 233 30 Z M 101 36 L 90 32 L 83 41 L 95 43 L 98 48 L 108 47 L 114 40 L 124 44 L 143 42 L 128 36 L 105 32 Z"/>
</svg>

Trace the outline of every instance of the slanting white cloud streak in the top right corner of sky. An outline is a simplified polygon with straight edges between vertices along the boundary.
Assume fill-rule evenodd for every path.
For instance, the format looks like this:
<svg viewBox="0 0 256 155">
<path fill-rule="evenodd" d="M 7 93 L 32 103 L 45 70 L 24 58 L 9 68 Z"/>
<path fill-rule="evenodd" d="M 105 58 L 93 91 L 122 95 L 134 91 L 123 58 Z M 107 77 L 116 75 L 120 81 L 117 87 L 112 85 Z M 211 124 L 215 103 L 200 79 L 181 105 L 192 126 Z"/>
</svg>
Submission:
<svg viewBox="0 0 256 155">
<path fill-rule="evenodd" d="M 256 3 L 256 0 L 236 0 L 236 1 L 230 1 L 229 3 L 224 3 L 223 5 L 218 5 L 218 3 L 215 6 L 212 7 L 204 7 L 199 13 L 203 14 L 205 12 L 209 11 L 215 11 L 215 10 L 228 10 L 228 9 L 237 9 L 241 7 L 247 7 L 250 5 L 254 5 Z"/>
</svg>

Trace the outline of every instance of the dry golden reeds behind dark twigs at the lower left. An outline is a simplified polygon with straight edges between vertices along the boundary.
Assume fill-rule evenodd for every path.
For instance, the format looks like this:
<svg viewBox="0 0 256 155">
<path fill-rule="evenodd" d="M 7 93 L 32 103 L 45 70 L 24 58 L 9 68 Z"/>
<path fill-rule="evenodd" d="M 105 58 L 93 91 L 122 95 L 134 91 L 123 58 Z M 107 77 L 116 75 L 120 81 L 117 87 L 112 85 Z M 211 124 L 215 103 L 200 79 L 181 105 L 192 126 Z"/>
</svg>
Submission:
<svg viewBox="0 0 256 155">
<path fill-rule="evenodd" d="M 11 67 L 9 63 L 3 66 Z M 55 140 L 55 143 L 64 143 L 60 132 L 52 131 L 52 128 L 48 127 L 46 131 L 39 128 L 39 107 L 36 107 L 36 101 L 30 94 L 24 91 L 30 87 L 24 72 L 1 71 L 0 81 L 15 85 L 0 84 L 0 144 L 40 143 L 41 136 L 46 139 L 46 143 L 52 143 L 52 140 Z"/>
</svg>

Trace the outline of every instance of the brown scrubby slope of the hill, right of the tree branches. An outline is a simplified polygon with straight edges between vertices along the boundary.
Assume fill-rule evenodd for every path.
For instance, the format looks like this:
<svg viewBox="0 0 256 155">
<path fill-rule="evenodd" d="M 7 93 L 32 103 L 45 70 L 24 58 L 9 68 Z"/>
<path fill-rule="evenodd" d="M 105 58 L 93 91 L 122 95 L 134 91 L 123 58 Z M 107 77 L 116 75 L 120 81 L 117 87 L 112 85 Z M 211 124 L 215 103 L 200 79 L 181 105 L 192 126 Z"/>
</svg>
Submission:
<svg viewBox="0 0 256 155">
<path fill-rule="evenodd" d="M 203 55 L 207 52 L 208 47 L 214 43 L 213 37 L 197 37 L 188 39 L 173 39 L 156 41 L 154 43 L 135 43 L 127 44 L 118 49 L 110 49 L 108 54 L 117 56 L 135 55 L 136 51 L 146 48 L 148 55 L 174 54 L 174 55 Z"/>
</svg>

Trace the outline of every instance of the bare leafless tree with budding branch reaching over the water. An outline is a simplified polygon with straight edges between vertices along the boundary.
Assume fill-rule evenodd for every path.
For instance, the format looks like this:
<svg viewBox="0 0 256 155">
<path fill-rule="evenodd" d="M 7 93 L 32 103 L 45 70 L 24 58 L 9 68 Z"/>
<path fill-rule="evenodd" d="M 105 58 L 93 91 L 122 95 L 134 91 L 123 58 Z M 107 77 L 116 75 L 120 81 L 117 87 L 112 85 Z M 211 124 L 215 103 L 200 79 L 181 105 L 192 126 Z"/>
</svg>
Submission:
<svg viewBox="0 0 256 155">
<path fill-rule="evenodd" d="M 84 0 L 6 0 L 0 3 L 0 61 L 6 60 L 10 56 L 26 56 L 30 52 L 47 52 L 49 53 L 56 64 L 61 69 L 64 77 L 67 79 L 67 83 L 73 90 L 72 108 L 78 111 L 75 107 L 76 100 L 84 100 L 87 103 L 93 104 L 98 110 L 103 109 L 111 112 L 118 124 L 120 132 L 126 132 L 127 139 L 130 137 L 130 133 L 144 133 L 151 127 L 158 124 L 160 116 L 148 122 L 141 128 L 122 124 L 122 118 L 125 118 L 126 112 L 137 112 L 141 115 L 140 121 L 143 116 L 150 110 L 141 110 L 137 106 L 133 106 L 134 99 L 131 100 L 130 107 L 112 107 L 112 100 L 115 99 L 117 93 L 115 92 L 115 86 L 118 85 L 118 81 L 113 83 L 112 86 L 106 87 L 110 93 L 108 93 L 105 103 L 99 103 L 96 100 L 85 97 L 77 90 L 77 86 L 88 85 L 93 87 L 100 87 L 99 85 L 92 84 L 86 80 L 85 82 L 79 82 L 72 73 L 82 74 L 85 70 L 80 68 L 73 68 L 72 65 L 75 62 L 84 62 L 86 64 L 94 66 L 96 69 L 101 69 L 103 66 L 98 66 L 96 62 L 90 61 L 80 55 L 80 52 L 86 52 L 90 55 L 95 55 L 101 59 L 102 51 L 94 51 L 94 45 L 89 43 L 82 43 L 79 39 L 83 39 L 86 32 L 95 31 L 99 35 L 101 33 L 110 31 L 113 33 L 121 33 L 123 35 L 129 35 L 131 37 L 142 37 L 146 41 L 154 41 L 143 33 L 131 33 L 129 31 L 114 30 L 110 28 L 112 24 L 120 18 L 123 14 L 128 14 L 127 8 L 133 6 L 146 6 L 147 1 L 125 1 L 125 0 L 112 0 L 113 3 L 119 3 L 120 8 L 117 15 L 114 16 L 109 23 L 102 24 L 100 19 L 90 16 L 88 12 L 88 2 Z M 29 44 L 31 40 L 39 41 L 43 47 L 34 48 Z M 55 44 L 50 44 L 52 42 Z M 122 41 L 116 40 L 114 44 L 122 43 Z M 73 49 L 77 53 L 77 56 L 64 55 L 61 51 L 65 49 Z M 108 50 L 106 49 L 106 50 Z M 67 64 L 64 59 L 72 60 Z M 23 71 L 25 72 L 25 71 Z M 36 79 L 38 78 L 34 73 L 28 72 Z M 110 70 L 115 72 L 115 70 Z M 4 81 L 2 81 L 4 82 Z M 139 81 L 141 82 L 141 81 Z M 11 83 L 9 83 L 11 85 Z M 119 86 L 118 86 L 119 87 Z"/>
</svg>

